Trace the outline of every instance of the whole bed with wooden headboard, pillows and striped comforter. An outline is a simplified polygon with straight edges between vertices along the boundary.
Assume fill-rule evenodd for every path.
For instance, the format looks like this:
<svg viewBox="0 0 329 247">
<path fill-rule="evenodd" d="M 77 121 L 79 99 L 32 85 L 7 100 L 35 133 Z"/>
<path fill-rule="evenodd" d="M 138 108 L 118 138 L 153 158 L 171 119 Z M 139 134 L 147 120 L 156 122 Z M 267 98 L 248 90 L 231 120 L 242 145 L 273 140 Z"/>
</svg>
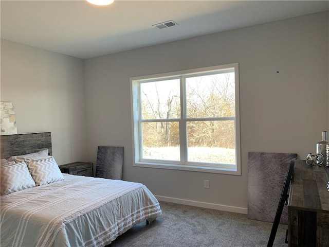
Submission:
<svg viewBox="0 0 329 247">
<path fill-rule="evenodd" d="M 143 184 L 63 174 L 51 155 L 50 132 L 1 136 L 1 246 L 105 246 L 161 215 Z"/>
</svg>

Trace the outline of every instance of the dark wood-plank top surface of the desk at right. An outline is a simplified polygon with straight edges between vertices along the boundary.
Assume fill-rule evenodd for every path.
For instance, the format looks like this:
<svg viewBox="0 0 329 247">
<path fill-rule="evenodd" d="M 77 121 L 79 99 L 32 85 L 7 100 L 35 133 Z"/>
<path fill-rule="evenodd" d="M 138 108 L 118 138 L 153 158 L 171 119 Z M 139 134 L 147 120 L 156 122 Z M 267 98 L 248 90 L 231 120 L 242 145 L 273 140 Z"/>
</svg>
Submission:
<svg viewBox="0 0 329 247">
<path fill-rule="evenodd" d="M 308 166 L 304 160 L 295 161 L 288 207 L 329 212 L 329 167 Z"/>
</svg>

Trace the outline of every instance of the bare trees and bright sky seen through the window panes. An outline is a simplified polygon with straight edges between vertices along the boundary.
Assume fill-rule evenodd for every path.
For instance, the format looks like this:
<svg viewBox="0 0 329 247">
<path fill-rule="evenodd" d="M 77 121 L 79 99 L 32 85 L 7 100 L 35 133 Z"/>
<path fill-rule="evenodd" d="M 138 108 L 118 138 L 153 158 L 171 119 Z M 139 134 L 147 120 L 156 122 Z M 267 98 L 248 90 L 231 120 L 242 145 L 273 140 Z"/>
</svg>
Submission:
<svg viewBox="0 0 329 247">
<path fill-rule="evenodd" d="M 188 161 L 235 164 L 234 120 L 221 119 L 235 117 L 234 85 L 233 72 L 185 79 Z M 152 120 L 141 125 L 143 158 L 180 161 L 180 80 L 140 89 L 142 119 Z"/>
</svg>

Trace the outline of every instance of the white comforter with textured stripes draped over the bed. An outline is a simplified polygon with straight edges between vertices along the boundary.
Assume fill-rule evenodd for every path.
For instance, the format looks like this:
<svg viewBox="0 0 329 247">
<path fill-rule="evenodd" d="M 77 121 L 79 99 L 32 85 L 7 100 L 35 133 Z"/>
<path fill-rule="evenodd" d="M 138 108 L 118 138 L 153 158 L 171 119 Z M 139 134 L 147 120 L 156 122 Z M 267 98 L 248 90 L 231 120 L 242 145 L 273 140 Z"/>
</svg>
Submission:
<svg viewBox="0 0 329 247">
<path fill-rule="evenodd" d="M 160 215 L 142 184 L 65 174 L 1 197 L 1 246 L 104 246 Z"/>
</svg>

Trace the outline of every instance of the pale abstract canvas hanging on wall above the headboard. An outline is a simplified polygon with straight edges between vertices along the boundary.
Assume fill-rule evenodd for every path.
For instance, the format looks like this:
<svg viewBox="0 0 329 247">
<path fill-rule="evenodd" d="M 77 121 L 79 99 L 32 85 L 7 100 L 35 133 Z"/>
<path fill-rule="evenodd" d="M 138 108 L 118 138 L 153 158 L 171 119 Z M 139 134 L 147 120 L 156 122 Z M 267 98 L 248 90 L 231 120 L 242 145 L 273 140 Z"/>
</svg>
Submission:
<svg viewBox="0 0 329 247">
<path fill-rule="evenodd" d="M 16 118 L 12 102 L 1 101 L 1 135 L 16 135 Z"/>
</svg>

